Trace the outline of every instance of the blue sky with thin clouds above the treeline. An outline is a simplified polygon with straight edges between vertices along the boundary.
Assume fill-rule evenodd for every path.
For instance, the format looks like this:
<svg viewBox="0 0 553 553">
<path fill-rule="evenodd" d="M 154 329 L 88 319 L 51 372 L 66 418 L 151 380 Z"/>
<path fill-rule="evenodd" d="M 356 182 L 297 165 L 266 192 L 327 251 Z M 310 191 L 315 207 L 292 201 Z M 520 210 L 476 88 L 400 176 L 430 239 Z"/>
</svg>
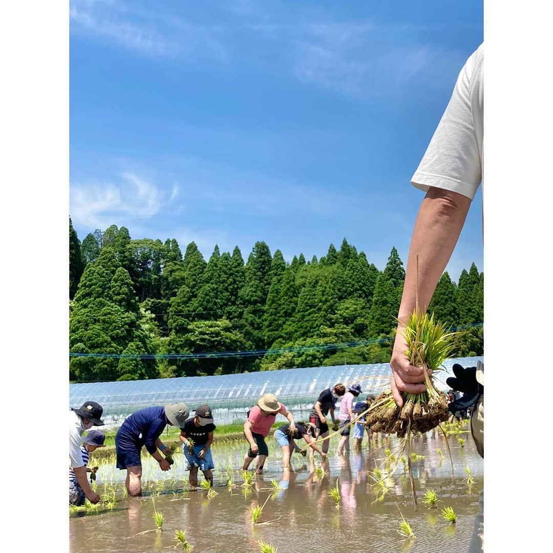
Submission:
<svg viewBox="0 0 553 553">
<path fill-rule="evenodd" d="M 409 184 L 482 2 L 70 2 L 70 213 L 81 240 L 255 241 L 291 260 L 342 238 L 405 261 Z M 482 267 L 482 196 L 448 270 Z"/>
</svg>

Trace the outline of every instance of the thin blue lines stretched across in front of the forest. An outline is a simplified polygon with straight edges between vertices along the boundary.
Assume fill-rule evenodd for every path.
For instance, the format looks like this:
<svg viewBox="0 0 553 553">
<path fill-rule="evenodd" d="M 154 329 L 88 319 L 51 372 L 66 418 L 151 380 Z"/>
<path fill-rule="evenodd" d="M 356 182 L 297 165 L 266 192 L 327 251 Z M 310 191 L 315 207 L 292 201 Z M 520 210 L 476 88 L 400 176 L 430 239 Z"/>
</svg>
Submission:
<svg viewBox="0 0 553 553">
<path fill-rule="evenodd" d="M 450 328 L 451 332 L 457 330 L 466 330 L 483 326 L 482 322 L 473 323 L 471 325 L 461 325 Z M 394 340 L 393 336 L 386 338 L 373 338 L 371 340 L 359 340 L 354 342 L 343 342 L 337 344 L 321 344 L 313 346 L 287 347 L 275 349 L 251 349 L 247 351 L 223 351 L 223 352 L 202 352 L 202 353 L 146 353 L 146 354 L 123 354 L 123 353 L 76 353 L 70 352 L 69 357 L 74 358 L 110 358 L 110 359 L 221 359 L 232 357 L 258 357 L 262 355 L 280 355 L 283 353 L 299 353 L 312 351 L 315 349 L 346 349 L 357 346 L 368 346 L 380 343 L 385 343 Z"/>
</svg>

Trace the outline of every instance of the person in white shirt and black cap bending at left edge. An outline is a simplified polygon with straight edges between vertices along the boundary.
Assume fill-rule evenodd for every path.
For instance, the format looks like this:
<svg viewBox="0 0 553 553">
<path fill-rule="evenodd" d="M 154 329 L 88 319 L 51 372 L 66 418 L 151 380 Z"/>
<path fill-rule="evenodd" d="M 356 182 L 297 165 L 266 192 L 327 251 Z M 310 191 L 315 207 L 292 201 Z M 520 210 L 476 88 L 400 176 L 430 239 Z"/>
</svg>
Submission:
<svg viewBox="0 0 553 553">
<path fill-rule="evenodd" d="M 83 505 L 85 498 L 90 503 L 98 503 L 100 495 L 92 491 L 86 477 L 86 463 L 83 461 L 81 436 L 92 426 L 103 426 L 102 406 L 96 401 L 85 401 L 79 409 L 69 411 L 69 469 L 75 482 L 69 481 L 69 504 Z"/>
</svg>

